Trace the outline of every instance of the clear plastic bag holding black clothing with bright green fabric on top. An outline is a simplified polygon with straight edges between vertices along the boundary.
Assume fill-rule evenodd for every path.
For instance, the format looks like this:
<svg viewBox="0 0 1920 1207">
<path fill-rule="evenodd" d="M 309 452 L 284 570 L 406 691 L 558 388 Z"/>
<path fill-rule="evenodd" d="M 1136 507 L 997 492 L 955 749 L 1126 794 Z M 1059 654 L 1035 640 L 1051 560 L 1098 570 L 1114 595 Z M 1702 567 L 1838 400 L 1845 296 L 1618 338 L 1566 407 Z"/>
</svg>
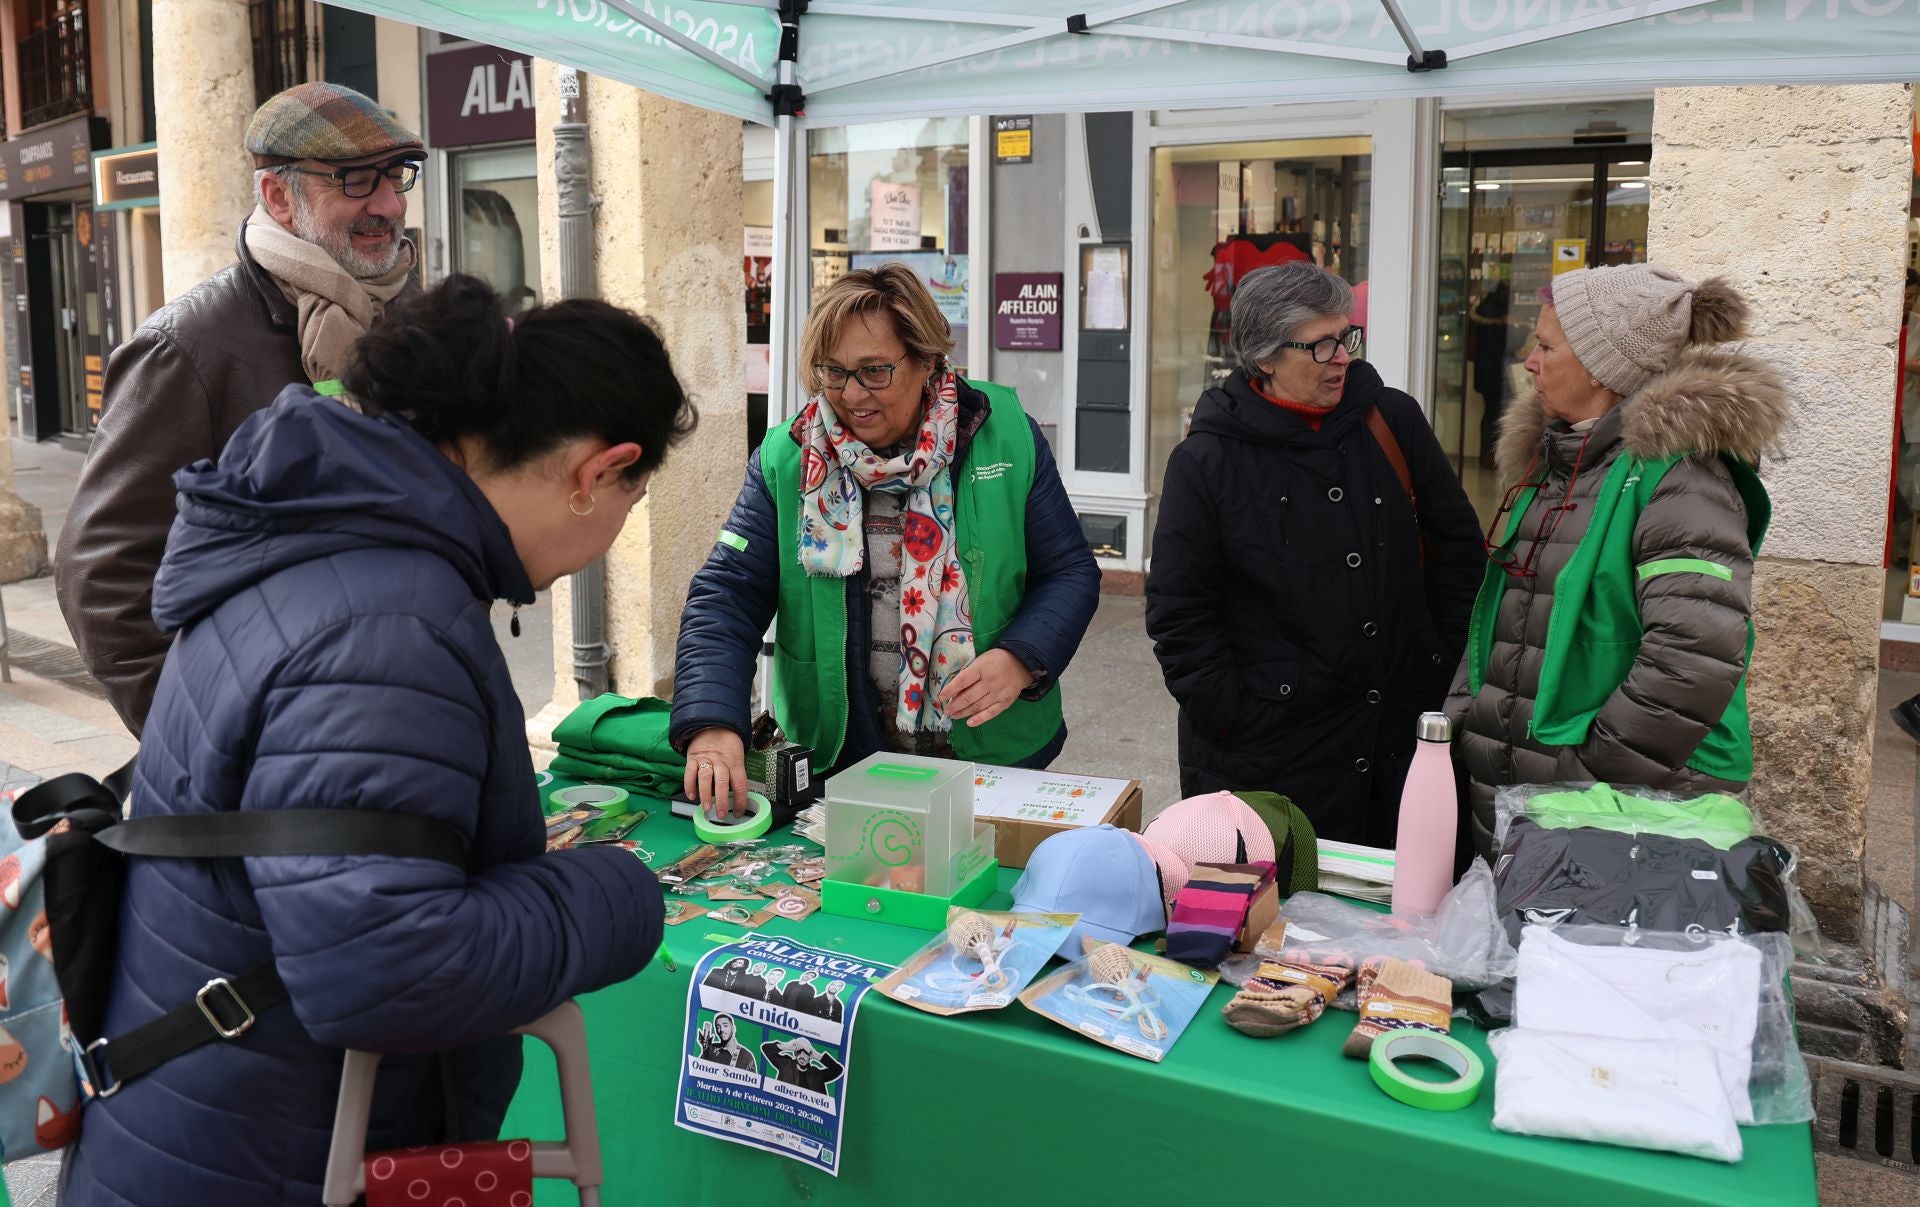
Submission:
<svg viewBox="0 0 1920 1207">
<path fill-rule="evenodd" d="M 1494 802 L 1500 915 L 1526 925 L 1789 935 L 1824 961 L 1795 854 L 1738 796 L 1613 785 L 1515 785 Z"/>
</svg>

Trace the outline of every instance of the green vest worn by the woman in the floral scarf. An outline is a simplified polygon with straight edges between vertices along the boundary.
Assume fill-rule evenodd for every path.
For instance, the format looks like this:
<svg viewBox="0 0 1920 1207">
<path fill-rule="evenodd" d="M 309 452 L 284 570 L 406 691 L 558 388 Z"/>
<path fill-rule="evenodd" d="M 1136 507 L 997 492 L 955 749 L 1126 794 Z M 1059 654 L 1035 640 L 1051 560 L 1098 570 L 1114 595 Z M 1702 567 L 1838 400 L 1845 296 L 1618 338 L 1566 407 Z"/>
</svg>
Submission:
<svg viewBox="0 0 1920 1207">
<path fill-rule="evenodd" d="M 1033 428 L 1006 386 L 968 382 L 993 407 L 954 472 L 954 543 L 966 564 L 973 649 L 989 651 L 1020 612 L 1027 587 L 1027 493 L 1033 489 Z M 760 472 L 774 495 L 780 541 L 780 612 L 774 618 L 774 718 L 781 731 L 831 768 L 847 741 L 847 580 L 801 572 L 801 447 L 787 424 L 760 443 Z M 1052 668 L 1060 674 L 1060 668 Z M 866 668 L 860 668 L 866 674 Z M 1058 679 L 1039 700 L 1014 704 L 985 725 L 960 722 L 954 754 L 1008 766 L 1041 750 L 1060 731 Z"/>
</svg>

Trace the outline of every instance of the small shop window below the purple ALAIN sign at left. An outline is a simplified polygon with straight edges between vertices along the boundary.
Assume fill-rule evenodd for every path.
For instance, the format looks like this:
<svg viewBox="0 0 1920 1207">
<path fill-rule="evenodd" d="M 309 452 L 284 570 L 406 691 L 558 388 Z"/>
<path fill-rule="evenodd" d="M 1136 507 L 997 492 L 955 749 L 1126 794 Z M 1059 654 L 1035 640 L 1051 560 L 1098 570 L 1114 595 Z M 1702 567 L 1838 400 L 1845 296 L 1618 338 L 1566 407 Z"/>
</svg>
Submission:
<svg viewBox="0 0 1920 1207">
<path fill-rule="evenodd" d="M 459 152 L 453 182 L 453 271 L 482 276 L 515 311 L 540 301 L 540 194 L 534 146 Z"/>
</svg>

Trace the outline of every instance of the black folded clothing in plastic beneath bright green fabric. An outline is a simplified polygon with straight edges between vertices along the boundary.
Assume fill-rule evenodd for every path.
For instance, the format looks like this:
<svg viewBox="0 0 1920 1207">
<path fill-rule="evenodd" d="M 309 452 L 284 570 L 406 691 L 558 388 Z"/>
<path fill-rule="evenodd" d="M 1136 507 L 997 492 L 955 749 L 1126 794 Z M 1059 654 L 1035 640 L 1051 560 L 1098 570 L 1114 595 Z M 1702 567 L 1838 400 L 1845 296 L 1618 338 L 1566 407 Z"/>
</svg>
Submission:
<svg viewBox="0 0 1920 1207">
<path fill-rule="evenodd" d="M 1791 867 L 1793 852 L 1763 837 L 1722 850 L 1699 839 L 1515 817 L 1494 883 L 1515 944 L 1526 925 L 1563 923 L 1749 935 L 1788 929 Z"/>
</svg>

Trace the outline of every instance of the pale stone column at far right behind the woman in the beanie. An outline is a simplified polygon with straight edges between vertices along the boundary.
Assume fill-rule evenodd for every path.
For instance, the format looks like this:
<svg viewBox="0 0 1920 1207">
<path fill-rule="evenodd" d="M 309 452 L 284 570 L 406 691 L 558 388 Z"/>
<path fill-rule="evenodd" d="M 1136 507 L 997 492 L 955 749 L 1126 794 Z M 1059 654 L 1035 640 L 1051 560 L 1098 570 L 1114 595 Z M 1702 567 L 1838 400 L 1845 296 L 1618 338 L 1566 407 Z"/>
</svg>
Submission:
<svg viewBox="0 0 1920 1207">
<path fill-rule="evenodd" d="M 1882 553 L 1912 175 L 1907 84 L 1661 88 L 1647 248 L 1755 303 L 1749 349 L 1795 426 L 1763 466 L 1753 576 L 1753 802 L 1851 940 L 1874 752 Z"/>
</svg>

